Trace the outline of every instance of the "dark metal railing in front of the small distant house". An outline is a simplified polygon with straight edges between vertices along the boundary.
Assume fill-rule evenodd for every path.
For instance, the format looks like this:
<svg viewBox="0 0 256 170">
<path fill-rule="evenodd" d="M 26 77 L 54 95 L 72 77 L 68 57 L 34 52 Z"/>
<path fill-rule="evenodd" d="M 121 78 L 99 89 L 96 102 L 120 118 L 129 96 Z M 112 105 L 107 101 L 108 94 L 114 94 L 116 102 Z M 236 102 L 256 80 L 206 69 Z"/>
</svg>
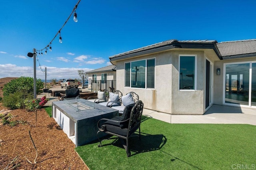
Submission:
<svg viewBox="0 0 256 170">
<path fill-rule="evenodd" d="M 103 91 L 104 89 L 114 92 L 116 90 L 116 80 L 93 80 L 91 82 L 91 91 Z"/>
</svg>

